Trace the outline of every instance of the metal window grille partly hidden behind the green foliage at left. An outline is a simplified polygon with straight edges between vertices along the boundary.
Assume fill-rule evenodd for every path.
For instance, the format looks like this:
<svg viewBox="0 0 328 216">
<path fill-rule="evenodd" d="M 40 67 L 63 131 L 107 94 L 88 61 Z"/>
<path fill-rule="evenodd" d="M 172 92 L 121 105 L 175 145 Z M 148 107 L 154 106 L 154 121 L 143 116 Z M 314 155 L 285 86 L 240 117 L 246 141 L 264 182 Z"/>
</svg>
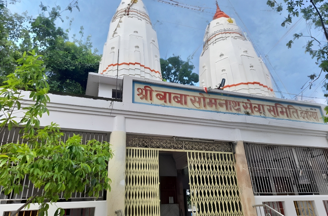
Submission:
<svg viewBox="0 0 328 216">
<path fill-rule="evenodd" d="M 19 134 L 21 128 L 12 128 L 10 131 L 8 128 L 5 128 L 0 133 L 0 146 L 8 143 L 22 143 L 24 140 L 21 138 L 22 134 Z M 82 136 L 82 143 L 87 144 L 89 140 L 96 139 L 99 142 L 107 141 L 107 134 L 103 133 L 88 133 L 88 132 L 77 132 L 77 131 L 61 131 L 64 135 L 61 139 L 65 142 L 73 134 Z M 8 195 L 4 194 L 3 187 L 0 187 L 0 204 L 7 204 L 10 202 L 7 201 L 22 201 L 27 200 L 29 197 L 33 196 L 39 189 L 34 188 L 34 185 L 28 178 L 28 175 L 25 175 L 25 178 L 22 180 L 23 190 L 19 194 L 14 194 L 11 192 Z M 99 193 L 99 198 L 103 197 L 103 190 Z M 72 194 L 73 199 L 95 199 L 96 197 L 89 196 L 86 192 L 86 189 L 83 192 L 75 192 Z M 59 196 L 59 199 L 65 199 L 63 194 Z M 82 200 L 81 200 L 82 201 Z"/>
</svg>

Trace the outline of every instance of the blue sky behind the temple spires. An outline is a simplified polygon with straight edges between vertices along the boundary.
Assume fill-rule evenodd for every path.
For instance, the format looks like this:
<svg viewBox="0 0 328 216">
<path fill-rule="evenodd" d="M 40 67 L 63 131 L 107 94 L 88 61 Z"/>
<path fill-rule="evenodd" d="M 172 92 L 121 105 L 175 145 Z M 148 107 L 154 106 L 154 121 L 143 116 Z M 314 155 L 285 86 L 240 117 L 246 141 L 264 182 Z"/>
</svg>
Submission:
<svg viewBox="0 0 328 216">
<path fill-rule="evenodd" d="M 54 7 L 60 5 L 65 8 L 72 0 L 43 0 L 44 5 Z M 168 0 L 166 0 L 168 1 Z M 143 0 L 146 5 L 154 29 L 157 32 L 159 50 L 161 58 L 180 55 L 186 60 L 197 47 L 202 43 L 207 22 L 211 21 L 215 13 L 215 0 L 178 0 L 178 2 L 200 6 L 206 9 L 206 12 L 199 12 L 191 9 L 174 7 L 172 5 L 160 3 L 157 0 Z M 63 17 L 73 17 L 70 37 L 78 34 L 80 26 L 84 27 L 85 35 L 92 35 L 93 47 L 99 49 L 102 53 L 103 45 L 106 42 L 109 25 L 113 14 L 120 0 L 79 0 L 80 12 L 74 9 L 72 13 L 66 11 Z M 305 38 L 301 38 L 292 45 L 291 49 L 286 47 L 286 43 L 293 38 L 294 33 L 307 32 L 305 20 L 302 18 L 294 18 L 292 25 L 281 27 L 286 12 L 279 13 L 270 10 L 266 5 L 266 0 L 219 0 L 221 10 L 236 19 L 237 25 L 248 32 L 253 45 L 259 50 L 264 58 L 274 80 L 286 99 L 291 99 L 294 95 L 300 93 L 303 84 L 307 83 L 308 75 L 320 73 L 320 69 L 311 59 L 309 54 L 304 53 L 303 46 Z M 28 11 L 29 15 L 36 17 L 40 13 L 40 1 L 22 0 L 21 3 L 10 5 L 8 8 L 11 12 L 22 13 Z M 235 10 L 232 8 L 235 8 Z M 237 15 L 237 14 L 238 15 Z M 240 19 L 238 18 L 240 17 Z M 297 25 L 294 25 L 301 19 Z M 57 26 L 68 28 L 69 20 L 64 19 L 64 23 L 57 21 Z M 277 42 L 291 28 L 287 36 L 278 44 Z M 247 28 L 247 29 L 246 29 Z M 313 35 L 323 39 L 323 34 L 312 29 Z M 276 45 L 277 44 L 277 45 Z M 271 50 L 271 51 L 270 51 Z M 269 52 L 270 51 L 270 52 Z M 269 53 L 268 53 L 269 52 Z M 191 60 L 195 65 L 194 72 L 198 73 L 199 55 L 201 47 L 195 52 L 194 58 Z M 265 59 L 267 55 L 267 59 Z M 323 92 L 319 82 L 323 80 L 323 76 L 314 83 L 312 89 L 303 91 L 303 96 L 323 98 Z M 307 84 L 305 85 L 307 86 Z M 277 91 L 277 87 L 274 86 Z M 277 97 L 281 97 L 276 92 Z M 312 99 L 312 98 L 303 98 Z M 325 103 L 325 99 L 314 99 L 317 102 Z"/>
</svg>

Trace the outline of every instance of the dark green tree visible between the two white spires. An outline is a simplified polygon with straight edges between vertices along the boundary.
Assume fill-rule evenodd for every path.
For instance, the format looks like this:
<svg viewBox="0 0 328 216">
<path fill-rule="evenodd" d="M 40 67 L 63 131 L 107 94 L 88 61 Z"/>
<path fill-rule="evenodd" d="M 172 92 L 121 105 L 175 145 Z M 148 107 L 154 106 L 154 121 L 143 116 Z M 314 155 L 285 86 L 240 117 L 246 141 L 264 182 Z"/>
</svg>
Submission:
<svg viewBox="0 0 328 216">
<path fill-rule="evenodd" d="M 184 85 L 195 85 L 199 81 L 198 74 L 193 73 L 195 66 L 181 60 L 180 56 L 160 59 L 160 64 L 162 78 L 166 81 Z"/>
</svg>

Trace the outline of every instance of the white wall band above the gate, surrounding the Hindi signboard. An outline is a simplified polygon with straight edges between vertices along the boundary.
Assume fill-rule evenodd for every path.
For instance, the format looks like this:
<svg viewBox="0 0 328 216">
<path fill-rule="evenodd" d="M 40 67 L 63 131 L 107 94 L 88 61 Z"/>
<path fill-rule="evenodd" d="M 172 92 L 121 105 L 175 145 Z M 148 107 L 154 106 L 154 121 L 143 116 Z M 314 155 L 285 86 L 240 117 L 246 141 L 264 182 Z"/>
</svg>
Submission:
<svg viewBox="0 0 328 216">
<path fill-rule="evenodd" d="M 132 98 L 129 97 L 132 96 L 133 91 L 130 85 L 132 80 L 146 81 L 140 78 L 124 77 L 124 102 L 50 94 L 51 102 L 48 103 L 50 116 L 43 115 L 40 119 L 41 125 L 49 125 L 55 119 L 55 122 L 65 129 L 108 133 L 113 131 L 113 118 L 123 116 L 126 118 L 126 132 L 130 134 L 180 136 L 220 141 L 243 140 L 260 144 L 328 148 L 327 129 L 324 124 L 132 103 Z M 161 81 L 152 82 L 162 83 Z M 172 87 L 201 89 L 176 83 L 166 84 Z M 109 94 L 108 92 L 114 88 L 114 85 L 100 83 L 99 87 L 98 94 L 102 95 L 103 92 Z M 234 94 L 245 96 L 241 93 Z M 256 97 L 266 99 L 266 97 Z"/>
</svg>

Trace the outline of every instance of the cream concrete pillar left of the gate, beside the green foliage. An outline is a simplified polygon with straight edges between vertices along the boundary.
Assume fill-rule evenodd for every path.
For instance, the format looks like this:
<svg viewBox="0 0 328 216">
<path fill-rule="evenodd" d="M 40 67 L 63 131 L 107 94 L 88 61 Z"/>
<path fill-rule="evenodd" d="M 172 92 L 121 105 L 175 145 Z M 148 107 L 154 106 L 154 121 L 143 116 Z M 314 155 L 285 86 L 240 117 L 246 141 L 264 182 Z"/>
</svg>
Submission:
<svg viewBox="0 0 328 216">
<path fill-rule="evenodd" d="M 126 158 L 126 131 L 125 117 L 114 118 L 113 132 L 109 142 L 114 153 L 108 163 L 108 177 L 112 180 L 111 191 L 107 191 L 107 216 L 115 216 L 115 210 L 125 205 L 125 158 Z"/>
</svg>

